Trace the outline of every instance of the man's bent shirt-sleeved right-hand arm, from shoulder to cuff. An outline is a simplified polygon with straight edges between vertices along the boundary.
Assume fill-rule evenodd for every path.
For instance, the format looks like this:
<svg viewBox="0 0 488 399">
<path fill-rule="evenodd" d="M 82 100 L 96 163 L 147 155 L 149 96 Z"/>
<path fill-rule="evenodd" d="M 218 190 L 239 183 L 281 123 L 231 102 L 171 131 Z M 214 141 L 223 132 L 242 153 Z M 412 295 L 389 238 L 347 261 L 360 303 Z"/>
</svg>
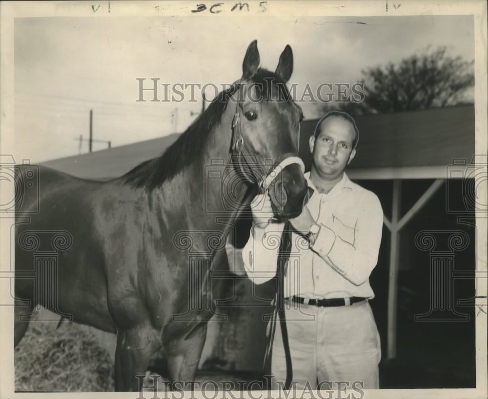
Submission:
<svg viewBox="0 0 488 399">
<path fill-rule="evenodd" d="M 368 193 L 360 206 L 353 244 L 336 235 L 333 226 L 322 224 L 311 246 L 330 267 L 356 285 L 363 284 L 376 266 L 383 230 L 383 210 L 378 197 Z"/>
</svg>

